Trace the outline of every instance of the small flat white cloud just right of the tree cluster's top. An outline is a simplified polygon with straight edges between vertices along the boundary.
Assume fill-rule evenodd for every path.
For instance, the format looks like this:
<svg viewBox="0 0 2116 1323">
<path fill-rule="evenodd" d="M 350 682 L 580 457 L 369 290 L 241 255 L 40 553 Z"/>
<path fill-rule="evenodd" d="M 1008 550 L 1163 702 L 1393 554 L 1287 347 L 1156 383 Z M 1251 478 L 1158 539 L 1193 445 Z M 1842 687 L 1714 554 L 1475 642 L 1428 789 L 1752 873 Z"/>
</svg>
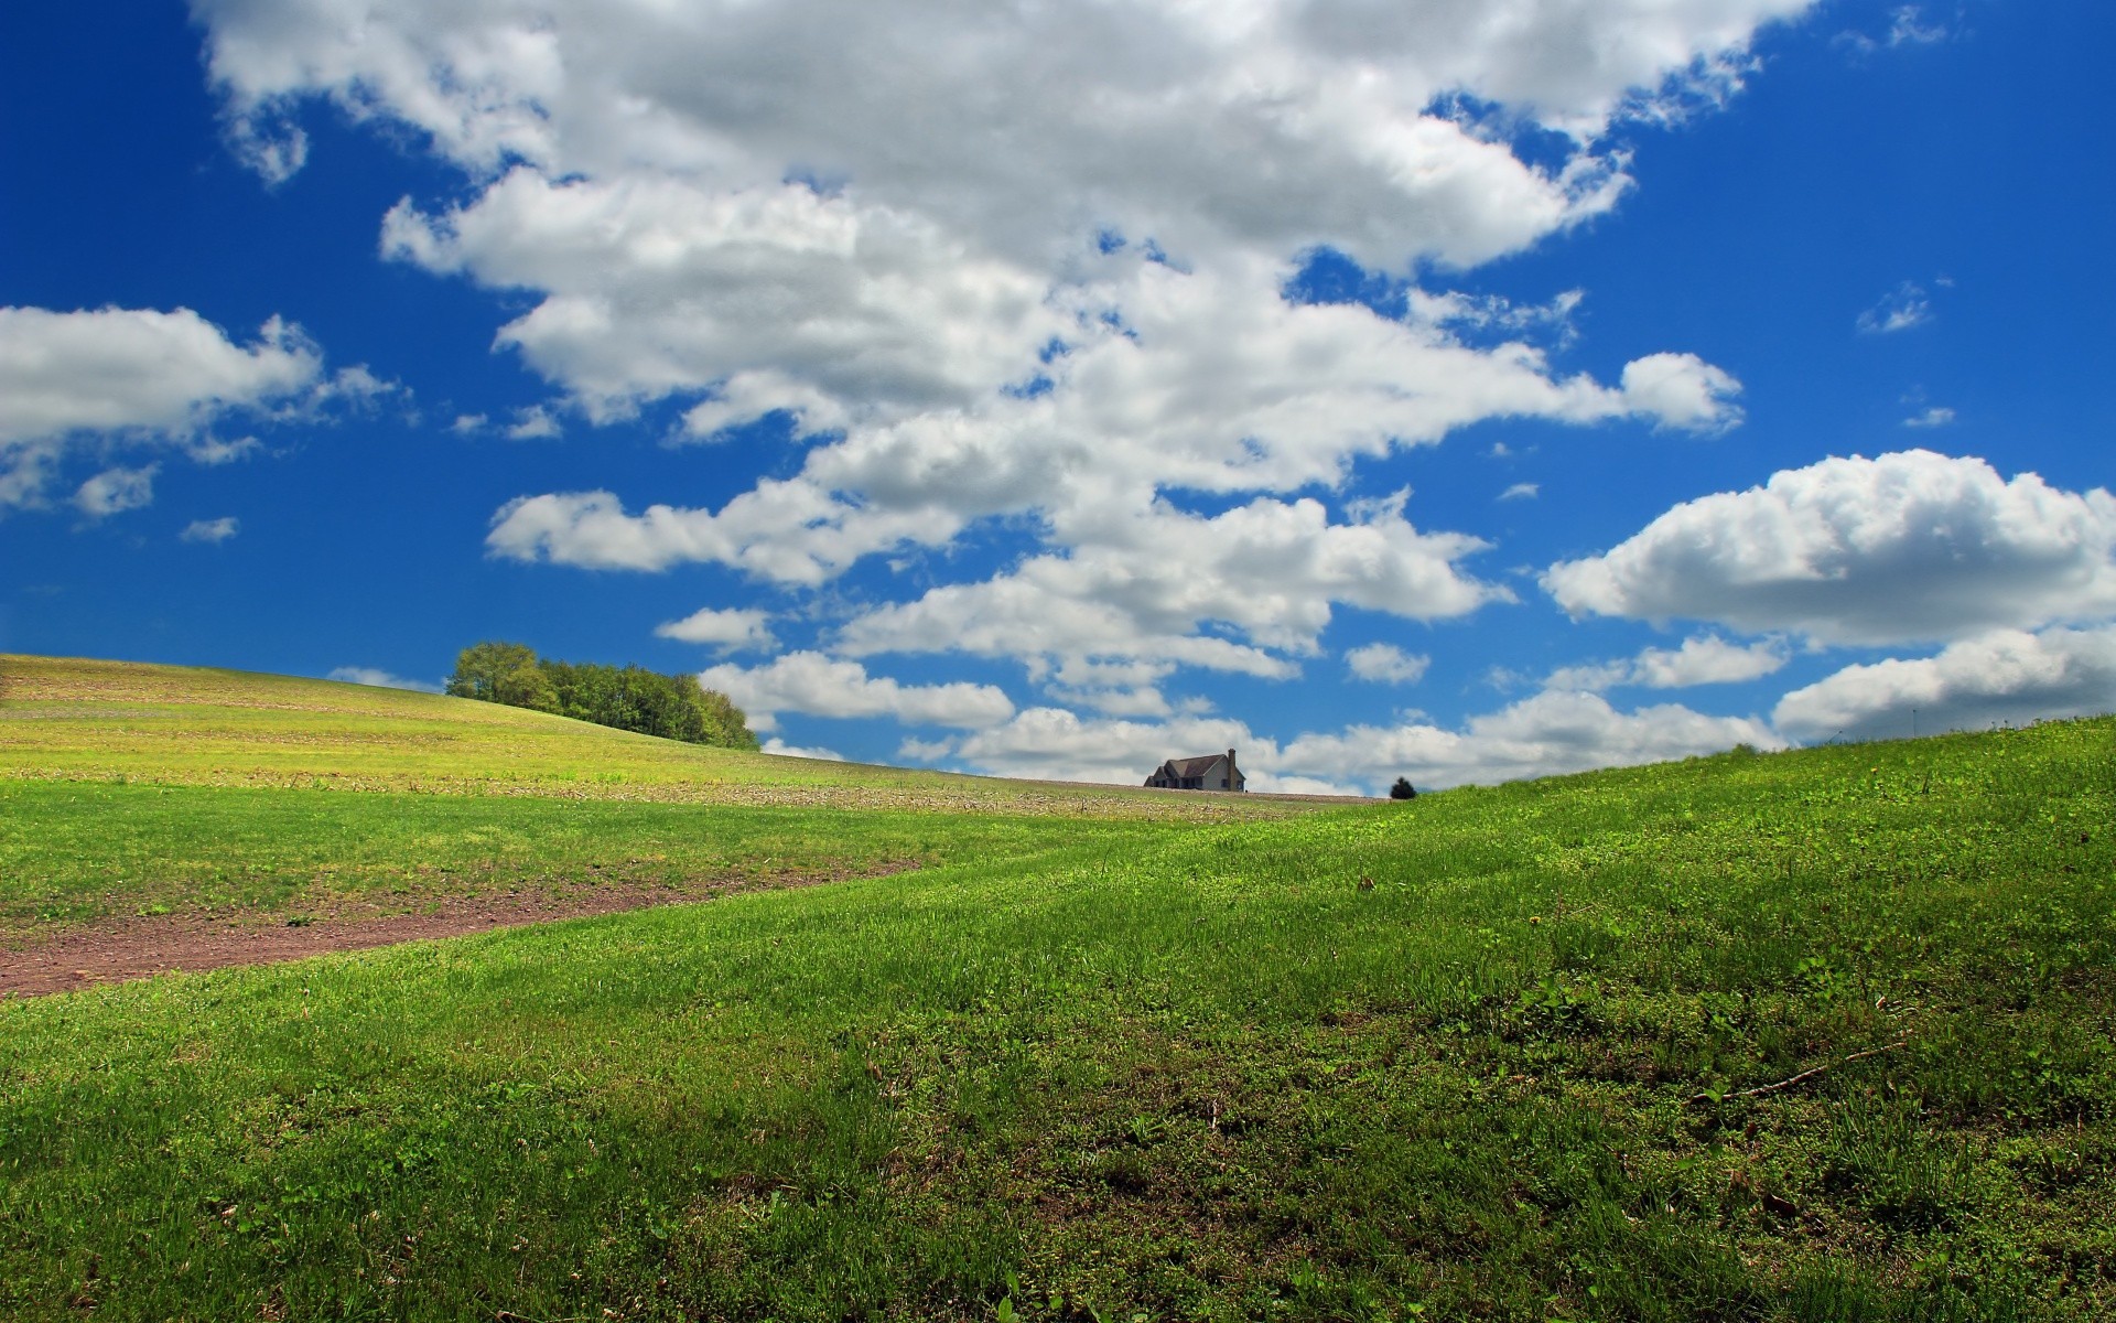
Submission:
<svg viewBox="0 0 2116 1323">
<path fill-rule="evenodd" d="M 787 652 L 762 667 L 707 667 L 698 684 L 734 699 L 755 730 L 774 730 L 781 711 L 961 728 L 997 726 L 1014 715 L 1014 703 L 990 684 L 897 684 L 821 652 Z"/>
</svg>

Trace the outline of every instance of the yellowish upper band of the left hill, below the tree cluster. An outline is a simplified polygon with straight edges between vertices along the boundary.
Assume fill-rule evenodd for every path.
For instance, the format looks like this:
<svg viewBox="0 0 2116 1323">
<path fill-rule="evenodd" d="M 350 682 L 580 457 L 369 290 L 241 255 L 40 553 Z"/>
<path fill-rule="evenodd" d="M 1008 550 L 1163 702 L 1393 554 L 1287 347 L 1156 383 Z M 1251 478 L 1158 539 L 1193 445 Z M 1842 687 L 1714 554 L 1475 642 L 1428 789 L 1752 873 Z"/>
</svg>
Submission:
<svg viewBox="0 0 2116 1323">
<path fill-rule="evenodd" d="M 0 777 L 1185 821 L 1306 811 L 1299 796 L 1164 794 L 777 758 L 440 694 L 53 656 L 0 656 Z"/>
</svg>

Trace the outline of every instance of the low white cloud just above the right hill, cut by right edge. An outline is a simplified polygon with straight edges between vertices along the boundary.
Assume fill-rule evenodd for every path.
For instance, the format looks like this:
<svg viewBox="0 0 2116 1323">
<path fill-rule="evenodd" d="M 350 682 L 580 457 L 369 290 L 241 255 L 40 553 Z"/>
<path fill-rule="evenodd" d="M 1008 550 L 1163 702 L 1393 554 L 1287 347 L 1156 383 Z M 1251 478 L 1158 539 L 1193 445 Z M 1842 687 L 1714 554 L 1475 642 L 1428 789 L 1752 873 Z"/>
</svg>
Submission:
<svg viewBox="0 0 2116 1323">
<path fill-rule="evenodd" d="M 1913 715 L 1915 711 L 1915 715 Z M 1991 631 L 1938 656 L 1845 667 L 1771 713 L 1794 739 L 1900 739 L 2116 711 L 2116 627 Z"/>
</svg>

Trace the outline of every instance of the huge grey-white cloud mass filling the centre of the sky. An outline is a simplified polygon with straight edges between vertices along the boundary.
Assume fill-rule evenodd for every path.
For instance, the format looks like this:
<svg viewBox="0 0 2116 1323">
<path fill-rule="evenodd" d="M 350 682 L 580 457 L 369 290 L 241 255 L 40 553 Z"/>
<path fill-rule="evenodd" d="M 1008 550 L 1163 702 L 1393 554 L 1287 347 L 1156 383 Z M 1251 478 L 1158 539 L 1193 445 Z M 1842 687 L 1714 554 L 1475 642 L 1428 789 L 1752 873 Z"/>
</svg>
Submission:
<svg viewBox="0 0 2116 1323">
<path fill-rule="evenodd" d="M 1758 28 L 1811 6 L 195 13 L 239 131 L 288 144 L 271 169 L 298 163 L 275 125 L 326 97 L 463 171 L 449 205 L 391 207 L 381 250 L 516 298 L 497 347 L 559 409 L 671 402 L 694 440 L 781 415 L 808 442 L 798 472 L 717 508 L 525 493 L 495 514 L 493 555 L 819 586 L 1011 519 L 1041 555 L 872 612 L 844 648 L 1287 675 L 1333 603 L 1430 618 L 1502 597 L 1456 569 L 1473 540 L 1329 523 L 1306 489 L 1485 419 L 1739 419 L 1739 383 L 1693 354 L 1646 351 L 1610 383 L 1521 343 L 1562 343 L 1579 290 L 1519 307 L 1418 290 L 1386 318 L 1289 298 L 1306 254 L 1445 273 L 1600 216 L 1629 186 L 1610 125 L 1727 95 Z M 1530 127 L 1555 133 L 1515 150 Z M 1183 493 L 1263 500 L 1204 519 Z M 1204 546 L 1179 582 L 1155 561 L 1170 531 L 1232 550 Z M 1240 559 L 1265 544 L 1289 569 L 1246 601 Z M 1151 682 L 1069 692 L 1168 707 Z"/>
</svg>

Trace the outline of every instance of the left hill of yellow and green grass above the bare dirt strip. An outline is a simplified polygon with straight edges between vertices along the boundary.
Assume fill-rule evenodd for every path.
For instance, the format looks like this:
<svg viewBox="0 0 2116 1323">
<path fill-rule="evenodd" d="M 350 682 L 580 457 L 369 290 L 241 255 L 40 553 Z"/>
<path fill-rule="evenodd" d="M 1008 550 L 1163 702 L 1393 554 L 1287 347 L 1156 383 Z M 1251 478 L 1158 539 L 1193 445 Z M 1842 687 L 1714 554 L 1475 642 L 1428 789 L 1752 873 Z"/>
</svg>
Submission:
<svg viewBox="0 0 2116 1323">
<path fill-rule="evenodd" d="M 0 656 L 0 946 L 129 912 L 703 898 L 1331 802 L 774 758 L 328 679 Z"/>
</svg>

